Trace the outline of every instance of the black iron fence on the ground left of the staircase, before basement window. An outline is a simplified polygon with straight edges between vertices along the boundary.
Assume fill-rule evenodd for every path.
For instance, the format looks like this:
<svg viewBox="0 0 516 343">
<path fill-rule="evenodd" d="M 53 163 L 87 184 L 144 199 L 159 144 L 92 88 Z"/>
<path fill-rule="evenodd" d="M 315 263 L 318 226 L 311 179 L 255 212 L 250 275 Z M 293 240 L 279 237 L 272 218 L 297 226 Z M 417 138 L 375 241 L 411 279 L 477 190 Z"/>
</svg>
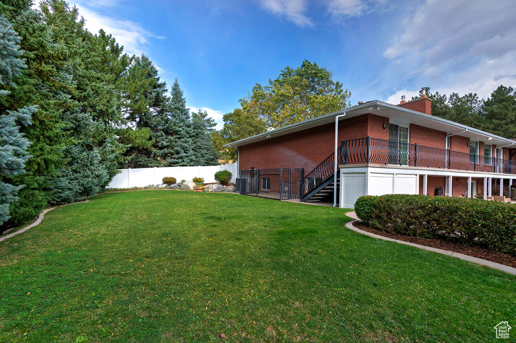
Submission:
<svg viewBox="0 0 516 343">
<path fill-rule="evenodd" d="M 240 193 L 276 200 L 300 199 L 303 176 L 302 168 L 243 170 L 240 171 Z"/>
</svg>

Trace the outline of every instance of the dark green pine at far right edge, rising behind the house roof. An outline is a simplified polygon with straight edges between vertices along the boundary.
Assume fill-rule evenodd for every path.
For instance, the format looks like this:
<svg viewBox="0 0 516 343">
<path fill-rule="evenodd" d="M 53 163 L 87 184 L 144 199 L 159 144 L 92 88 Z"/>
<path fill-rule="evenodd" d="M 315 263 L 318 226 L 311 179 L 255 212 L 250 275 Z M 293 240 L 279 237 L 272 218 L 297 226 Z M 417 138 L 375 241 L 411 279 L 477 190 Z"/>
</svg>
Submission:
<svg viewBox="0 0 516 343">
<path fill-rule="evenodd" d="M 493 134 L 516 138 L 516 91 L 512 87 L 499 86 L 491 93 L 483 106 L 485 129 Z"/>
</svg>

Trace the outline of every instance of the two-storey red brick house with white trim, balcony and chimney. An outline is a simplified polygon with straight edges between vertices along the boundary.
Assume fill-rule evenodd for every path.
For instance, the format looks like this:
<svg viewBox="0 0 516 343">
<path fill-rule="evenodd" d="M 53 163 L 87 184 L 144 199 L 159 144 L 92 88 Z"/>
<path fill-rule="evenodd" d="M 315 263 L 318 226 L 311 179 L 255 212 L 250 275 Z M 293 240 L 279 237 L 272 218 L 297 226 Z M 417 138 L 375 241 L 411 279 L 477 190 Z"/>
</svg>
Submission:
<svg viewBox="0 0 516 343">
<path fill-rule="evenodd" d="M 238 149 L 240 192 L 333 201 L 337 189 L 338 205 L 352 208 L 361 195 L 487 199 L 493 187 L 511 186 L 516 141 L 434 117 L 431 100 L 422 94 L 398 105 L 359 102 L 226 144 Z"/>
</svg>

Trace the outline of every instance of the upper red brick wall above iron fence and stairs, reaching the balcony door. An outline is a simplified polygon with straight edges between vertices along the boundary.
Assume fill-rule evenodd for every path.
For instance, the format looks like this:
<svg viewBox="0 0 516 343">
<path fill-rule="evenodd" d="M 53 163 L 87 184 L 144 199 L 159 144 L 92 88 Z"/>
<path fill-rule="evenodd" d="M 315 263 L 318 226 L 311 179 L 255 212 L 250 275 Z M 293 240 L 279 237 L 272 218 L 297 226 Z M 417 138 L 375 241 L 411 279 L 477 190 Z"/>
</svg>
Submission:
<svg viewBox="0 0 516 343">
<path fill-rule="evenodd" d="M 341 120 L 338 123 L 338 141 L 367 136 L 389 139 L 389 129 L 383 128 L 388 118 L 367 114 Z M 240 147 L 240 170 L 252 167 L 305 168 L 310 172 L 335 149 L 335 124 L 309 128 L 296 133 L 272 137 Z"/>
</svg>

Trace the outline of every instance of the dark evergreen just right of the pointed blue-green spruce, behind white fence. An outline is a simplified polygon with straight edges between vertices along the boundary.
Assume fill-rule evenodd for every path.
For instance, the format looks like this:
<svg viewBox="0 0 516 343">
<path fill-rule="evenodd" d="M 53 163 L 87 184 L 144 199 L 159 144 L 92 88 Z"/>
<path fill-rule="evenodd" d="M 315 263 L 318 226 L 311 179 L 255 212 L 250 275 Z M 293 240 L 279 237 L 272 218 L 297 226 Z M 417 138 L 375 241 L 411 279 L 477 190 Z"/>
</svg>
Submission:
<svg viewBox="0 0 516 343">
<path fill-rule="evenodd" d="M 213 149 L 212 137 L 209 130 L 215 126 L 215 121 L 208 113 L 192 113 L 193 122 L 193 154 L 196 166 L 218 165 L 217 152 Z"/>
</svg>

